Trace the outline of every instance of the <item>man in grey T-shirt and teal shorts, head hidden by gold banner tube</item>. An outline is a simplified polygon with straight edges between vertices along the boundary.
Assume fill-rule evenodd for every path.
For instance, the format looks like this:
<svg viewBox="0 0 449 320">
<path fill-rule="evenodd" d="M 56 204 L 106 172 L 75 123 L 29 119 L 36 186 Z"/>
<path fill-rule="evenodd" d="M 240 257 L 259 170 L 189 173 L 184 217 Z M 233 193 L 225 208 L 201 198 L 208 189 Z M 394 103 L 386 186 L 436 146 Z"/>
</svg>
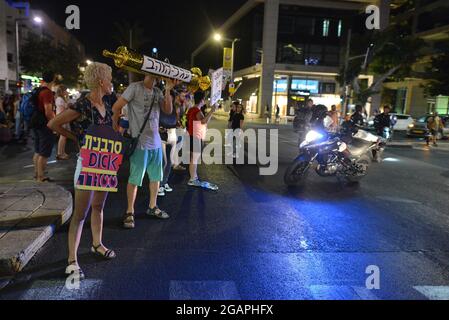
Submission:
<svg viewBox="0 0 449 320">
<path fill-rule="evenodd" d="M 173 101 L 170 91 L 179 81 L 168 81 L 165 96 L 155 86 L 156 78 L 146 75 L 144 81 L 131 84 L 123 93 L 113 107 L 114 130 L 119 131 L 119 119 L 122 109 L 128 105 L 129 126 L 131 135 L 137 137 L 139 131 L 144 127 L 140 136 L 139 144 L 130 158 L 131 168 L 128 180 L 128 209 L 123 221 L 126 229 L 135 227 L 134 204 L 137 197 L 138 187 L 142 187 L 145 173 L 150 180 L 150 205 L 147 215 L 157 219 L 168 219 L 169 215 L 157 207 L 157 196 L 162 181 L 162 142 L 159 135 L 160 113 L 171 114 Z M 148 122 L 144 121 L 151 112 Z"/>
</svg>

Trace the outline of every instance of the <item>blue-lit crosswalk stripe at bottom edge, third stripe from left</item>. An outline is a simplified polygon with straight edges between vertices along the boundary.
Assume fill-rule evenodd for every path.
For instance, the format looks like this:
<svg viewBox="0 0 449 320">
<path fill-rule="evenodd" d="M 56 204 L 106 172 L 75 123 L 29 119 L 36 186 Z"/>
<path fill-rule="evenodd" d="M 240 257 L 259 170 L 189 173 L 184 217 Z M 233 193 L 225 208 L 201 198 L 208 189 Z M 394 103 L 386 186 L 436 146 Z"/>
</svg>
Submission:
<svg viewBox="0 0 449 320">
<path fill-rule="evenodd" d="M 315 300 L 379 300 L 373 293 L 363 287 L 351 286 L 310 286 L 309 290 Z"/>
</svg>

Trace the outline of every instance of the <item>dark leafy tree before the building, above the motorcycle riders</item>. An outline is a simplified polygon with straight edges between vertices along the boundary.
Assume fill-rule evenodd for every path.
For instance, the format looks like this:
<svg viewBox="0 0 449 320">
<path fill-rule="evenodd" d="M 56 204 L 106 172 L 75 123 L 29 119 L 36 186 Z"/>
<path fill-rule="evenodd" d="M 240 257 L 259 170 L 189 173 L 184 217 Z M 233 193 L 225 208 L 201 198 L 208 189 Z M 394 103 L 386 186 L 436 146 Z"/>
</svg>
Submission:
<svg viewBox="0 0 449 320">
<path fill-rule="evenodd" d="M 364 105 L 369 97 L 380 93 L 385 81 L 400 81 L 411 74 L 413 64 L 421 56 L 422 45 L 421 39 L 411 35 L 407 21 L 393 21 L 383 31 L 355 36 L 351 42 L 351 56 L 360 56 L 360 59 L 349 62 L 346 74 L 341 72 L 340 83 L 352 85 L 356 103 Z M 361 84 L 358 78 L 362 73 L 375 76 L 371 86 Z"/>
</svg>

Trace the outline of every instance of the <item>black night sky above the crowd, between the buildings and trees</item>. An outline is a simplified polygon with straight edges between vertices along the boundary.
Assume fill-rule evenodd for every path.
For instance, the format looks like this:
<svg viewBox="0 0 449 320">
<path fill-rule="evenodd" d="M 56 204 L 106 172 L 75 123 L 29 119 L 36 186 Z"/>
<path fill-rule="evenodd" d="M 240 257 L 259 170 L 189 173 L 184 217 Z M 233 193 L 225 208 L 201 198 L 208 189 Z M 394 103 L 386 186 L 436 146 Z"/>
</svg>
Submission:
<svg viewBox="0 0 449 320">
<path fill-rule="evenodd" d="M 103 49 L 115 50 L 117 43 L 111 35 L 114 23 L 138 21 L 150 40 L 144 50 L 159 49 L 159 58 L 168 57 L 172 63 L 190 61 L 191 53 L 221 26 L 246 0 L 31 0 L 34 9 L 44 10 L 59 25 L 65 26 L 68 5 L 78 5 L 81 30 L 70 31 L 86 47 L 87 58 L 103 60 Z"/>
</svg>

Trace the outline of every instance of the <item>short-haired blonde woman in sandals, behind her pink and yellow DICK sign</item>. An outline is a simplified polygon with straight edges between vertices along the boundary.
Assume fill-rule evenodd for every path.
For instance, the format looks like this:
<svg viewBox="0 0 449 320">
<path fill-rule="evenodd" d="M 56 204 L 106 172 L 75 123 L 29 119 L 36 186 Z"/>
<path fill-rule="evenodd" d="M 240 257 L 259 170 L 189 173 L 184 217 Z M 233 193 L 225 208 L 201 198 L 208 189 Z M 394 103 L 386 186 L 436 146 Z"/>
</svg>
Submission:
<svg viewBox="0 0 449 320">
<path fill-rule="evenodd" d="M 57 133 L 73 140 L 78 146 L 91 125 L 103 125 L 112 127 L 112 107 L 105 98 L 112 92 L 112 69 L 103 63 L 92 63 L 86 68 L 84 80 L 90 89 L 89 95 L 79 99 L 75 105 L 50 121 L 48 126 Z M 64 125 L 72 123 L 72 132 L 65 129 Z M 78 159 L 75 173 L 75 184 L 81 173 L 82 159 Z M 75 188 L 76 189 L 76 188 Z M 80 279 L 84 273 L 78 264 L 78 247 L 84 221 L 89 210 L 92 209 L 91 229 L 93 245 L 92 253 L 106 260 L 114 259 L 116 254 L 103 245 L 103 208 L 107 199 L 107 192 L 75 190 L 75 208 L 69 230 L 69 266 L 66 274 L 77 273 Z"/>
</svg>

